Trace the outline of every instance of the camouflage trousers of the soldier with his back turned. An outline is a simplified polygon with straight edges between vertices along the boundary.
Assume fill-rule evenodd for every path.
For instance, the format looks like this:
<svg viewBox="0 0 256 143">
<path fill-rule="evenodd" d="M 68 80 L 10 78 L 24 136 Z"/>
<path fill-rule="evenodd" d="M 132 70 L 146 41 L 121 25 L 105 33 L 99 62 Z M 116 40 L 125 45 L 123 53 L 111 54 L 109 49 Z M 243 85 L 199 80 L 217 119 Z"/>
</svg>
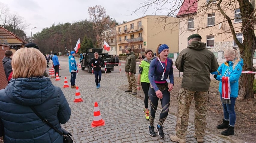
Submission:
<svg viewBox="0 0 256 143">
<path fill-rule="evenodd" d="M 178 110 L 176 136 L 186 139 L 187 124 L 191 101 L 195 100 L 195 133 L 197 138 L 203 139 L 206 130 L 206 113 L 208 107 L 208 91 L 190 91 L 181 88 L 178 93 Z"/>
</svg>

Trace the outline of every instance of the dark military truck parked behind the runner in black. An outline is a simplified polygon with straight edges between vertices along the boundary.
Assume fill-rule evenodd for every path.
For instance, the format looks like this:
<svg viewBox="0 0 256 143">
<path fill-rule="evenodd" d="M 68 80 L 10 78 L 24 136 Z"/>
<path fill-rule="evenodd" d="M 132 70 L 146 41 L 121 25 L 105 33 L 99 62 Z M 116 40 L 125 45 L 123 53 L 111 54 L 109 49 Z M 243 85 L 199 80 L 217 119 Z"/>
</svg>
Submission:
<svg viewBox="0 0 256 143">
<path fill-rule="evenodd" d="M 114 66 L 118 66 L 119 59 L 117 56 L 110 55 L 108 53 L 102 53 L 102 49 L 88 49 L 87 53 L 83 53 L 83 59 L 81 62 L 81 70 L 85 70 L 87 67 L 88 73 L 92 73 L 92 68 L 88 65 L 88 63 L 94 58 L 94 53 L 99 53 L 99 58 L 103 59 L 105 63 L 116 63 L 116 64 L 106 64 L 107 72 L 111 72 L 114 70 Z M 105 68 L 105 65 L 101 68 Z"/>
</svg>

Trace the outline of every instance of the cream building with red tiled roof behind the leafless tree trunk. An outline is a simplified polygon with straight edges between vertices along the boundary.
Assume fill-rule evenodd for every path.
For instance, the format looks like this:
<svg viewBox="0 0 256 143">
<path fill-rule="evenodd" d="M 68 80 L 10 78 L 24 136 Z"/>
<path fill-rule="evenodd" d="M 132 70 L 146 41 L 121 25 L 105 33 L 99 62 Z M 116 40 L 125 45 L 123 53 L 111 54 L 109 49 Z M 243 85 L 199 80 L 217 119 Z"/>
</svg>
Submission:
<svg viewBox="0 0 256 143">
<path fill-rule="evenodd" d="M 239 50 L 233 40 L 229 24 L 218 10 L 217 3 L 218 1 L 209 2 L 209 0 L 184 0 L 177 14 L 180 19 L 179 52 L 187 47 L 187 38 L 194 33 L 202 36 L 202 41 L 212 52 L 224 51 L 234 47 Z M 238 2 L 233 1 L 226 8 L 222 4 L 221 6 L 230 19 L 233 19 L 232 24 L 235 27 L 236 37 L 242 43 L 242 19 L 240 19 Z M 206 7 L 208 8 L 206 9 Z"/>
</svg>

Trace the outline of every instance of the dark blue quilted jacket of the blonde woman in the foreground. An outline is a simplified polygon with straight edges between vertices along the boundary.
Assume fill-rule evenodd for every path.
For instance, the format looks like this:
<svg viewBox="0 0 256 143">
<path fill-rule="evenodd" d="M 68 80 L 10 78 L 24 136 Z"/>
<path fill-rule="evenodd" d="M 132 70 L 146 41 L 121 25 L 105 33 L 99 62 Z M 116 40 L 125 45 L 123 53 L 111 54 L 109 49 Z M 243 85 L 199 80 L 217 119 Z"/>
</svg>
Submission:
<svg viewBox="0 0 256 143">
<path fill-rule="evenodd" d="M 59 87 L 49 78 L 11 79 L 0 90 L 0 119 L 4 125 L 5 143 L 61 143 L 63 136 L 31 110 L 35 107 L 41 116 L 61 130 L 60 123 L 68 122 L 71 109 Z"/>
</svg>

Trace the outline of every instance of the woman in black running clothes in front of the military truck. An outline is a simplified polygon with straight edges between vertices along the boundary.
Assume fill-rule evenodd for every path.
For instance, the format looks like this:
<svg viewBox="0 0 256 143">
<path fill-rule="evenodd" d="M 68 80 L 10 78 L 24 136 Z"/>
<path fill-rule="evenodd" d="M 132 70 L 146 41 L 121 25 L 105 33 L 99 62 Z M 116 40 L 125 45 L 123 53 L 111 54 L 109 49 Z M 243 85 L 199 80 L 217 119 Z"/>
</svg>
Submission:
<svg viewBox="0 0 256 143">
<path fill-rule="evenodd" d="M 93 67 L 93 73 L 95 75 L 95 83 L 96 83 L 96 88 L 98 89 L 100 87 L 99 82 L 101 81 L 101 67 L 105 64 L 105 62 L 99 58 L 99 53 L 95 52 L 94 57 L 88 65 L 90 67 Z M 98 79 L 99 78 L 99 79 Z"/>
</svg>

